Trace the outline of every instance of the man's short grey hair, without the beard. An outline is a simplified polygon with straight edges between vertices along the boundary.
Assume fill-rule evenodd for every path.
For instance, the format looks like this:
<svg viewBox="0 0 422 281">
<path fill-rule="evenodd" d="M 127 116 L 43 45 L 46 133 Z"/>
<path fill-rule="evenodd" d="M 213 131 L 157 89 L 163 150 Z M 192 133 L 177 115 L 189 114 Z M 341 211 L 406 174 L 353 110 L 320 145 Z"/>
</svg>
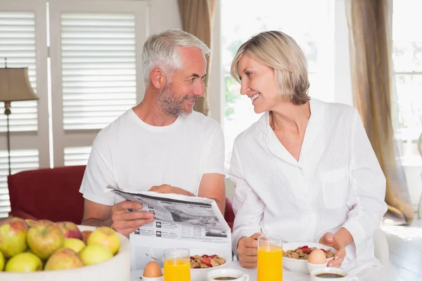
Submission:
<svg viewBox="0 0 422 281">
<path fill-rule="evenodd" d="M 154 68 L 164 71 L 167 79 L 171 81 L 171 74 L 183 66 L 179 47 L 198 48 L 204 55 L 210 53 L 210 48 L 203 41 L 182 30 L 166 30 L 151 35 L 143 44 L 142 70 L 145 86 L 150 83 Z"/>
</svg>

